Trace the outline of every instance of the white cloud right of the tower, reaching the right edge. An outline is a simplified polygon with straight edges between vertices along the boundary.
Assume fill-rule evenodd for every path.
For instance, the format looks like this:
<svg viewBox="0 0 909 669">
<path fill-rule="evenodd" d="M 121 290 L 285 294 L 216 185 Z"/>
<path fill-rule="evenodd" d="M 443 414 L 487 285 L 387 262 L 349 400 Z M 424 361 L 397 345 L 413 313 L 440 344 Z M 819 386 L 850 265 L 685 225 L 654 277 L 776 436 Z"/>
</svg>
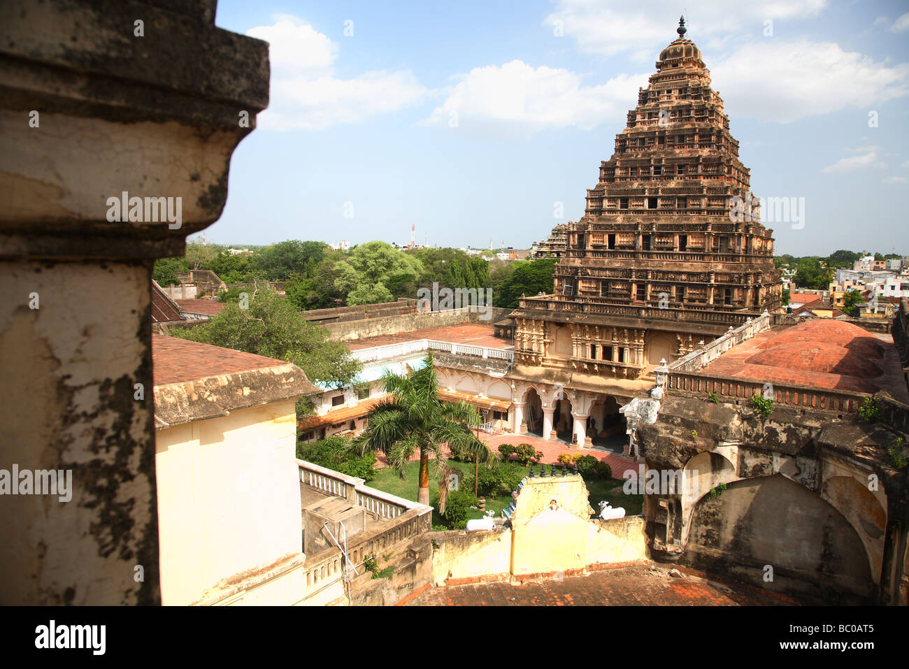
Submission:
<svg viewBox="0 0 909 669">
<path fill-rule="evenodd" d="M 833 42 L 746 44 L 714 66 L 712 79 L 730 115 L 778 123 L 909 95 L 909 64 L 886 66 Z"/>
</svg>

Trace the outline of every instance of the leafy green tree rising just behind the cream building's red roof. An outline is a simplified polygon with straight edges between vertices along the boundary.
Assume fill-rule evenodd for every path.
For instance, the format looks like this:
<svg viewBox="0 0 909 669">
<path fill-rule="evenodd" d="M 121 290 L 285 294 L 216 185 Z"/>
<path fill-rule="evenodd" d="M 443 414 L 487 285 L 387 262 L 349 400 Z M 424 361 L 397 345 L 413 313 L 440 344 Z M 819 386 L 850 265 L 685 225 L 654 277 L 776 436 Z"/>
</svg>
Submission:
<svg viewBox="0 0 909 669">
<path fill-rule="evenodd" d="M 354 381 L 362 365 L 344 344 L 331 341 L 325 328 L 306 322 L 294 305 L 268 285 L 249 293 L 247 308 L 227 302 L 205 325 L 173 328 L 171 334 L 285 360 L 300 367 L 314 384 L 341 388 Z"/>
</svg>

